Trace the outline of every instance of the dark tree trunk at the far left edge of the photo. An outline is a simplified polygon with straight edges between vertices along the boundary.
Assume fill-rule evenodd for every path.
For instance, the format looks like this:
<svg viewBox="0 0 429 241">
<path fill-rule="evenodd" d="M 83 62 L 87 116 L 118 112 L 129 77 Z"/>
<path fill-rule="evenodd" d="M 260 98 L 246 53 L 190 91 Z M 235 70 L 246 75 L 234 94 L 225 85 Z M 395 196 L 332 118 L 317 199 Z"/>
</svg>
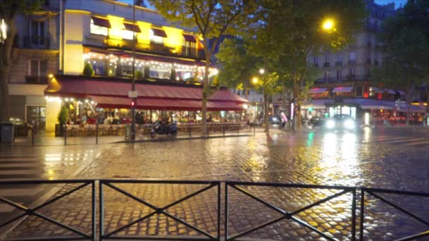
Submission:
<svg viewBox="0 0 429 241">
<path fill-rule="evenodd" d="M 7 38 L 0 48 L 0 121 L 9 121 L 10 105 L 8 79 L 11 71 L 11 51 L 16 34 L 15 19 L 5 19 L 8 26 Z"/>
</svg>

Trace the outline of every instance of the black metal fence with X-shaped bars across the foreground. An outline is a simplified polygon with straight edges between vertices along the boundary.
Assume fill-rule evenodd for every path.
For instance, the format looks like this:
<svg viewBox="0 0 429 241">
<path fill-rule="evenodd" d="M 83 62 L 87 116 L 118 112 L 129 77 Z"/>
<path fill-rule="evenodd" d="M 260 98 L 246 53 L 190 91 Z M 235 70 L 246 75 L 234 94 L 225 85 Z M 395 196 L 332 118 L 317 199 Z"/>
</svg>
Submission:
<svg viewBox="0 0 429 241">
<path fill-rule="evenodd" d="M 309 209 L 320 206 L 329 202 L 330 200 L 343 196 L 343 195 L 351 195 L 350 200 L 350 214 L 351 214 L 351 228 L 347 230 L 347 235 L 350 240 L 365 240 L 364 230 L 365 230 L 365 197 L 368 196 L 375 197 L 379 199 L 383 203 L 393 207 L 397 211 L 400 211 L 402 214 L 405 214 L 408 217 L 415 219 L 416 221 L 425 225 L 426 228 L 429 229 L 429 222 L 425 221 L 423 218 L 413 214 L 411 211 L 407 210 L 403 206 L 399 206 L 399 204 L 395 204 L 392 201 L 387 200 L 385 197 L 382 197 L 382 194 L 399 194 L 401 196 L 406 197 L 429 197 L 429 193 L 425 192 L 407 192 L 403 190 L 386 190 L 386 189 L 376 189 L 376 188 L 367 188 L 367 187 L 348 187 L 348 186 L 333 186 L 333 185 L 303 185 L 296 183 L 254 183 L 254 182 L 238 182 L 238 181 L 193 181 L 193 180 L 16 180 L 16 181 L 0 181 L 0 188 L 6 186 L 20 186 L 20 185 L 75 185 L 73 187 L 68 188 L 68 190 L 64 190 L 63 192 L 58 192 L 54 197 L 48 199 L 48 201 L 43 204 L 37 205 L 35 208 L 30 208 L 28 206 L 23 206 L 22 204 L 18 204 L 16 202 L 11 201 L 11 199 L 7 199 L 5 197 L 0 197 L 0 203 L 3 202 L 14 208 L 23 211 L 23 214 L 10 218 L 7 221 L 4 221 L 0 224 L 0 228 L 4 228 L 11 223 L 15 223 L 20 221 L 21 218 L 25 216 L 37 216 L 38 218 L 42 218 L 44 221 L 48 221 L 49 223 L 53 223 L 54 225 L 58 225 L 61 228 L 68 230 L 73 233 L 75 236 L 66 236 L 66 237 L 37 237 L 35 240 L 239 240 L 241 237 L 244 237 L 250 233 L 254 233 L 262 228 L 267 227 L 268 225 L 272 225 L 274 223 L 279 223 L 280 221 L 289 220 L 294 221 L 298 225 L 300 225 L 303 229 L 308 229 L 314 233 L 320 235 L 320 237 L 325 238 L 326 240 L 337 240 L 337 237 L 334 237 L 330 232 L 324 232 L 319 228 L 314 227 L 310 224 L 310 222 L 303 221 L 299 218 L 299 214 L 303 214 Z M 169 204 L 156 205 L 148 201 L 149 197 L 142 198 L 138 197 L 136 194 L 132 194 L 131 192 L 125 190 L 123 187 L 119 187 L 119 185 L 138 185 L 138 184 L 150 184 L 150 185 L 174 185 L 175 188 L 179 188 L 183 185 L 194 185 L 197 186 L 197 190 L 193 190 L 191 193 L 186 194 L 184 197 L 175 198 L 173 202 L 169 202 Z M 201 187 L 203 186 L 203 187 Z M 91 200 L 90 206 L 90 232 L 85 232 L 83 230 L 79 230 L 78 228 L 73 228 L 71 225 L 66 223 L 56 221 L 54 218 L 51 218 L 47 215 L 41 214 L 39 212 L 40 209 L 53 204 L 59 199 L 63 199 L 79 190 L 82 190 L 85 187 L 90 187 L 90 197 L 88 199 Z M 98 188 L 97 188 L 98 187 Z M 109 198 L 105 194 L 105 188 L 109 187 L 110 192 L 118 192 L 119 194 L 123 194 L 125 197 L 132 199 L 133 201 L 141 204 L 150 209 L 150 212 L 145 215 L 138 216 L 135 220 L 129 221 L 124 224 L 121 223 L 119 227 L 114 228 L 114 230 L 109 230 L 109 232 L 105 232 L 107 225 L 104 223 L 105 215 L 109 212 L 107 209 L 107 205 L 105 202 L 109 201 Z M 246 188 L 245 188 L 246 187 Z M 255 194 L 248 189 L 250 188 L 282 188 L 284 190 L 291 189 L 299 189 L 305 190 L 305 192 L 310 192 L 311 190 L 318 191 L 329 191 L 332 194 L 328 194 L 327 197 L 319 199 L 316 202 L 311 202 L 310 204 L 306 204 L 301 208 L 297 208 L 295 210 L 285 210 L 282 207 L 274 204 L 272 200 L 262 199 L 258 197 L 258 194 Z M 223 189 L 223 192 L 222 192 Z M 98 190 L 98 191 L 97 191 Z M 216 197 L 212 197 L 212 204 L 214 204 L 214 208 L 217 210 L 215 222 L 212 226 L 212 230 L 203 230 L 203 228 L 199 228 L 197 225 L 193 225 L 185 218 L 181 218 L 173 213 L 168 211 L 169 208 L 176 206 L 189 200 L 193 197 L 201 195 L 205 192 L 209 192 L 209 190 L 214 190 L 214 194 Z M 244 194 L 246 197 L 249 197 L 250 200 L 256 202 L 258 204 L 262 204 L 268 209 L 274 211 L 279 214 L 279 217 L 272 218 L 270 221 L 266 221 L 260 225 L 257 225 L 252 228 L 247 228 L 241 232 L 229 232 L 229 211 L 231 208 L 231 190 L 234 192 L 238 192 Z M 223 197 L 222 197 L 223 195 Z M 359 197 L 360 196 L 360 197 Z M 119 202 L 118 200 L 116 200 Z M 357 204 L 359 202 L 360 204 Z M 425 203 L 425 202 L 423 202 Z M 426 205 L 429 205 L 427 202 Z M 98 210 L 97 209 L 98 206 Z M 97 213 L 98 211 L 98 213 Z M 98 214 L 98 216 L 97 216 Z M 149 236 L 129 236 L 129 235 L 120 235 L 121 231 L 130 228 L 131 226 L 140 223 L 142 221 L 147 220 L 148 218 L 163 214 L 168 218 L 180 223 L 193 230 L 197 236 L 189 237 L 184 235 L 179 235 L 176 237 L 169 237 L 168 235 L 149 235 Z M 194 214 L 195 215 L 195 214 Z M 97 218 L 98 217 L 98 218 Z M 358 219 L 358 220 L 357 220 Z M 98 225 L 97 225 L 98 224 Z M 417 233 L 415 235 L 409 235 L 406 237 L 401 237 L 397 240 L 416 240 L 419 238 L 429 237 L 429 230 Z M 13 240 L 32 240 L 31 237 L 24 238 L 13 238 Z"/>
</svg>

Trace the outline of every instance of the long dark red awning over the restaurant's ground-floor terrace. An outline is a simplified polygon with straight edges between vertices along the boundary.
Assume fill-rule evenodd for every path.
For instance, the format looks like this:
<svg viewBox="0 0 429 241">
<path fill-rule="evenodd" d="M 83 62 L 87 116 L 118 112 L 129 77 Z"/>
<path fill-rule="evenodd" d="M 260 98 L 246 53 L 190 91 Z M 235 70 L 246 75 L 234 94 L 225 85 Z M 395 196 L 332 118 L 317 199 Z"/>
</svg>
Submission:
<svg viewBox="0 0 429 241">
<path fill-rule="evenodd" d="M 44 93 L 50 97 L 92 99 L 104 108 L 128 109 L 131 106 L 130 89 L 131 82 L 59 76 L 49 83 Z M 138 91 L 136 106 L 141 109 L 197 111 L 202 106 L 203 88 L 200 86 L 138 83 L 135 89 Z M 209 97 L 207 110 L 242 111 L 245 104 L 248 104 L 246 99 L 228 89 L 219 89 Z"/>
</svg>

